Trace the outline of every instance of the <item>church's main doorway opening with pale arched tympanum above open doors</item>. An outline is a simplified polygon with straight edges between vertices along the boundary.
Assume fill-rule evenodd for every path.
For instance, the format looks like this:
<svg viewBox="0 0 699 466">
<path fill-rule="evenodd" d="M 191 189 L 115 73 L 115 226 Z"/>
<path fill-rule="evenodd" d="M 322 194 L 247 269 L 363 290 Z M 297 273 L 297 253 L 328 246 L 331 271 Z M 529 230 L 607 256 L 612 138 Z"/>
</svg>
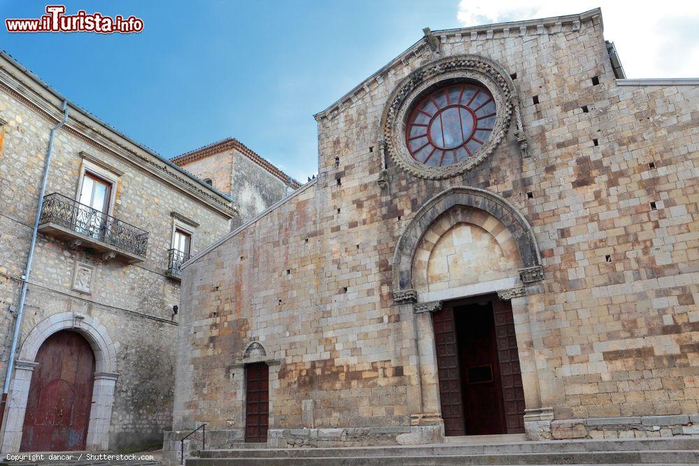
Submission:
<svg viewBox="0 0 699 466">
<path fill-rule="evenodd" d="M 474 207 L 447 210 L 417 245 L 412 268 L 417 292 L 427 296 L 447 291 L 452 296 L 433 313 L 447 436 L 524 432 L 524 389 L 510 302 L 482 290 L 461 298 L 458 291 L 511 282 L 521 267 L 509 229 Z"/>
</svg>

